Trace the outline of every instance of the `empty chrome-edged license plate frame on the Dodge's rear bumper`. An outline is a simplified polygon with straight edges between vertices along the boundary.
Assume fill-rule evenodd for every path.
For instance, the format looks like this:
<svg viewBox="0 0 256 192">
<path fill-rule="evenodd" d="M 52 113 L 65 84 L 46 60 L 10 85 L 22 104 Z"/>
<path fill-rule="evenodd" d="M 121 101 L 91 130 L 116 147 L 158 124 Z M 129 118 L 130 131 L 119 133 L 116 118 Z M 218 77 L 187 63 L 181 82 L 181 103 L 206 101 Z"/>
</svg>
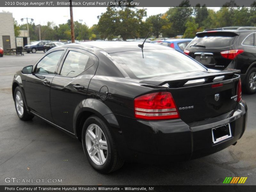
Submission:
<svg viewBox="0 0 256 192">
<path fill-rule="evenodd" d="M 212 128 L 212 142 L 219 143 L 232 137 L 230 124 L 221 125 L 219 127 Z"/>
</svg>

